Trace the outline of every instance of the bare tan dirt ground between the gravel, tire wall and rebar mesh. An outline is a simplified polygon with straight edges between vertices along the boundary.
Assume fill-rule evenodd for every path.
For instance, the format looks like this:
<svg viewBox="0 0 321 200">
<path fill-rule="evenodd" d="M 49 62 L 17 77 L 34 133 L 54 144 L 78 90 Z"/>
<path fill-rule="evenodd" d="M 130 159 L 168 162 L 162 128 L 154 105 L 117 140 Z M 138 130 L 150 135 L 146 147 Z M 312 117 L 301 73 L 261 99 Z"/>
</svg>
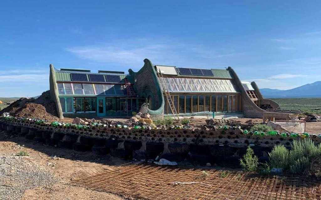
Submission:
<svg viewBox="0 0 321 200">
<path fill-rule="evenodd" d="M 96 156 L 88 152 L 82 153 L 49 147 L 18 138 L 12 138 L 10 141 L 3 140 L 0 135 L 0 157 L 14 156 L 21 151 L 26 151 L 29 154 L 29 156 L 24 156 L 23 160 L 40 165 L 59 178 L 59 181 L 52 186 L 26 190 L 22 196 L 23 200 L 123 199 L 106 192 L 83 188 L 75 185 L 72 180 L 83 172 L 104 171 L 109 166 L 124 164 L 126 163 L 124 160 L 110 156 Z M 0 199 L 2 199 L 1 195 Z"/>
</svg>

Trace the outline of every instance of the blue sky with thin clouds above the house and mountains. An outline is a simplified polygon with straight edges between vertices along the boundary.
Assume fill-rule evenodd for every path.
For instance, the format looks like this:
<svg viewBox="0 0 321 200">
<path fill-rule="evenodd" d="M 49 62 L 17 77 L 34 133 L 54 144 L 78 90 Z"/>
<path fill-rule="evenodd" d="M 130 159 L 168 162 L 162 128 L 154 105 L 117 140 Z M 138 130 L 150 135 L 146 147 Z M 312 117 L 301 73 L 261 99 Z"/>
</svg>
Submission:
<svg viewBox="0 0 321 200">
<path fill-rule="evenodd" d="M 260 88 L 321 80 L 321 1 L 3 1 L 0 97 L 49 89 L 57 69 L 231 66 Z"/>
</svg>

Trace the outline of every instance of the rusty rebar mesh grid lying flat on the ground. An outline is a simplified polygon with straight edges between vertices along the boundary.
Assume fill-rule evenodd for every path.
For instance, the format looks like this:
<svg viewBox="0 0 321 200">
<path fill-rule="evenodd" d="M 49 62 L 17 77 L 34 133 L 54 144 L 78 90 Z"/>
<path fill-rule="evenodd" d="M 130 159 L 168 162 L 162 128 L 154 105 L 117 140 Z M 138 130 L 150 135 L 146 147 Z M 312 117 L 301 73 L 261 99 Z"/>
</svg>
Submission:
<svg viewBox="0 0 321 200">
<path fill-rule="evenodd" d="M 320 181 L 304 177 L 256 176 L 248 172 L 224 170 L 205 170 L 206 175 L 202 171 L 203 169 L 126 164 L 108 167 L 105 171 L 81 174 L 74 181 L 93 190 L 139 199 L 321 199 Z"/>
</svg>

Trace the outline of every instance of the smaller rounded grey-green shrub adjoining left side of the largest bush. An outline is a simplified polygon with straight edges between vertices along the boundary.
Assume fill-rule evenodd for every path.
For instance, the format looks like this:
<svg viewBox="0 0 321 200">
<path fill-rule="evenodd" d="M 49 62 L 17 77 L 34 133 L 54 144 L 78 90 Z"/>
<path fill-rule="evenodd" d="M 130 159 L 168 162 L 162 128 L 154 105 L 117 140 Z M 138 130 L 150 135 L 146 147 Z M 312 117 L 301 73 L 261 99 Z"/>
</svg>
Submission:
<svg viewBox="0 0 321 200">
<path fill-rule="evenodd" d="M 289 166 L 289 150 L 283 145 L 275 145 L 270 156 L 271 167 L 287 169 Z"/>
</svg>

